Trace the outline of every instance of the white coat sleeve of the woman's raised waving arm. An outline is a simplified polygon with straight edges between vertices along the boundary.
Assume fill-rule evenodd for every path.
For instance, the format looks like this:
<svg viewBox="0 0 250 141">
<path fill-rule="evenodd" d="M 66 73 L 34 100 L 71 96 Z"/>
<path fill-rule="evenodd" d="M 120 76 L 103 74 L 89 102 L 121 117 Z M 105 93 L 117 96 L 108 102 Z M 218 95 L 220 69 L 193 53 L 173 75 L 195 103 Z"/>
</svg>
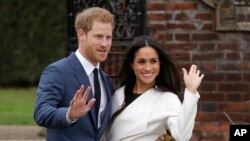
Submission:
<svg viewBox="0 0 250 141">
<path fill-rule="evenodd" d="M 199 98 L 198 92 L 194 95 L 185 89 L 183 103 L 176 100 L 175 104 L 172 105 L 175 105 L 175 110 L 172 116 L 167 119 L 167 126 L 175 140 L 187 141 L 191 138 Z"/>
</svg>

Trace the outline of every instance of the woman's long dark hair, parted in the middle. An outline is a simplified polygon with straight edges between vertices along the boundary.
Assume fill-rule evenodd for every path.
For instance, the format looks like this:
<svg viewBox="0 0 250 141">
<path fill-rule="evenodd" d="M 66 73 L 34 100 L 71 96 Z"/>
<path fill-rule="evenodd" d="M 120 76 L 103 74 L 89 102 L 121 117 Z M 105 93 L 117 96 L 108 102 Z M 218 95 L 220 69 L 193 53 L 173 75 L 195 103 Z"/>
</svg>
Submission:
<svg viewBox="0 0 250 141">
<path fill-rule="evenodd" d="M 131 64 L 135 59 L 136 52 L 140 48 L 146 46 L 150 46 L 155 49 L 160 61 L 160 72 L 156 77 L 155 85 L 153 86 L 153 88 L 161 92 L 168 91 L 179 95 L 181 80 L 179 71 L 177 70 L 172 58 L 161 49 L 161 45 L 154 39 L 147 36 L 136 37 L 129 45 L 119 73 L 119 80 L 121 82 L 119 87 L 125 86 L 125 103 L 124 106 L 119 111 L 117 111 L 114 116 L 118 115 L 127 106 L 126 101 L 128 97 L 133 94 L 133 87 L 136 82 L 136 76 L 134 74 L 134 70 L 131 67 Z"/>
</svg>

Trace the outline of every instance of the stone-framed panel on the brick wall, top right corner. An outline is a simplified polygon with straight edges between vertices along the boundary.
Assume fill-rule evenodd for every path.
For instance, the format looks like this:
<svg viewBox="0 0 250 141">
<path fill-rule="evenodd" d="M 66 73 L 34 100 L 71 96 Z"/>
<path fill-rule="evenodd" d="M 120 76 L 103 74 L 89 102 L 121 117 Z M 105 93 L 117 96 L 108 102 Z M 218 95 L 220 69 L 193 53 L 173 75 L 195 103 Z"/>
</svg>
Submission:
<svg viewBox="0 0 250 141">
<path fill-rule="evenodd" d="M 215 8 L 217 31 L 250 31 L 250 0 L 203 0 Z"/>
</svg>

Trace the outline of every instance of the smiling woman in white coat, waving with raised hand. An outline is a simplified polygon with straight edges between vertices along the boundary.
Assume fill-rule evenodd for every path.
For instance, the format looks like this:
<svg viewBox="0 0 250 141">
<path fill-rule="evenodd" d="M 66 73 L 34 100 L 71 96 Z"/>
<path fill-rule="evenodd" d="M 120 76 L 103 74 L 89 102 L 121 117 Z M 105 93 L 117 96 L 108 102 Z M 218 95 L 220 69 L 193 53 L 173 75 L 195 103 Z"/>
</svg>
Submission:
<svg viewBox="0 0 250 141">
<path fill-rule="evenodd" d="M 178 98 L 180 77 L 173 61 L 149 37 L 136 38 L 121 68 L 115 90 L 110 141 L 154 141 L 166 129 L 177 141 L 189 140 L 194 127 L 199 87 L 204 75 L 196 65 L 183 70 L 186 89 Z"/>
</svg>

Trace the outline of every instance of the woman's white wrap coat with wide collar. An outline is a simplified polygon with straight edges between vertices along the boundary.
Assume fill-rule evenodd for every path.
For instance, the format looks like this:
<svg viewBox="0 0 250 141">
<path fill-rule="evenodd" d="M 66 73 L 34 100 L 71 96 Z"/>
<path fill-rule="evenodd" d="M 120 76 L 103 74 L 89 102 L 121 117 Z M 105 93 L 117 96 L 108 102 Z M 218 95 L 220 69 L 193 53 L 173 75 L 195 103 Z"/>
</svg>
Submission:
<svg viewBox="0 0 250 141">
<path fill-rule="evenodd" d="M 149 89 L 128 105 L 113 121 L 109 141 L 153 141 L 170 129 L 177 141 L 189 140 L 194 127 L 199 94 L 185 90 L 177 95 Z M 112 113 L 121 108 L 124 87 L 115 91 Z"/>
</svg>

